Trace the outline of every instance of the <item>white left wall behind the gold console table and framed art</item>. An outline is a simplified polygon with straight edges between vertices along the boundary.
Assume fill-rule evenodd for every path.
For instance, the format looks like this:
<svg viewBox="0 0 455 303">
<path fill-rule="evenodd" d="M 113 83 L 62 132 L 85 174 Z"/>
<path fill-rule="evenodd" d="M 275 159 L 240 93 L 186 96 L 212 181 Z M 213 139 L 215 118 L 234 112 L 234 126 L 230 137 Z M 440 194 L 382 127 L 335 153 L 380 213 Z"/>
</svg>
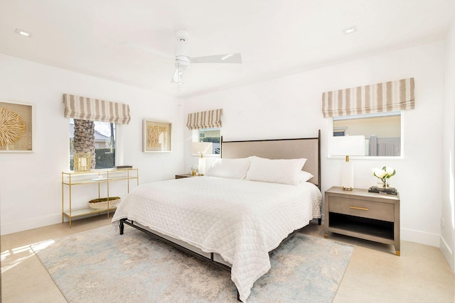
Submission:
<svg viewBox="0 0 455 303">
<path fill-rule="evenodd" d="M 139 168 L 140 183 L 181 172 L 181 100 L 6 55 L 0 55 L 0 66 L 0 100 L 34 106 L 33 153 L 0 153 L 1 234 L 61 222 L 61 172 L 69 169 L 64 93 L 129 104 L 132 120 L 119 126 L 118 153 L 124 155 L 123 164 Z M 173 123 L 172 153 L 142 153 L 142 119 Z M 94 194 L 94 189 L 86 191 Z M 74 202 L 84 206 L 87 199 Z"/>
</svg>

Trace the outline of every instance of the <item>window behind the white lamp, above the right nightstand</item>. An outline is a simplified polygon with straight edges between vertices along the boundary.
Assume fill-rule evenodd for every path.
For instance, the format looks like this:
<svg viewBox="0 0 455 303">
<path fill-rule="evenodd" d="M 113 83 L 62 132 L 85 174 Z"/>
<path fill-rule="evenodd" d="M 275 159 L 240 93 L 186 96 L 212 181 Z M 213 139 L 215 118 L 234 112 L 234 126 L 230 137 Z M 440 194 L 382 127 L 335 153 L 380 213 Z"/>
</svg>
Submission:
<svg viewBox="0 0 455 303">
<path fill-rule="evenodd" d="M 333 136 L 365 136 L 365 155 L 396 157 L 402 150 L 402 111 L 333 117 Z"/>
</svg>

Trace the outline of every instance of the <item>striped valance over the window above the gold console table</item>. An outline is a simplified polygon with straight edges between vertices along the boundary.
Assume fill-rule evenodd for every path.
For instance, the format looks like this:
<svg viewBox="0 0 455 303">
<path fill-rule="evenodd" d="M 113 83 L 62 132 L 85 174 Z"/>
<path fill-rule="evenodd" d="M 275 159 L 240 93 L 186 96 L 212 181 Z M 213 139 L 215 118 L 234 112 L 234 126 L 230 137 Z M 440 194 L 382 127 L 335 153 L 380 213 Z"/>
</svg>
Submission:
<svg viewBox="0 0 455 303">
<path fill-rule="evenodd" d="M 128 124 L 129 105 L 63 94 L 65 117 L 89 121 L 101 121 L 117 124 Z"/>
</svg>

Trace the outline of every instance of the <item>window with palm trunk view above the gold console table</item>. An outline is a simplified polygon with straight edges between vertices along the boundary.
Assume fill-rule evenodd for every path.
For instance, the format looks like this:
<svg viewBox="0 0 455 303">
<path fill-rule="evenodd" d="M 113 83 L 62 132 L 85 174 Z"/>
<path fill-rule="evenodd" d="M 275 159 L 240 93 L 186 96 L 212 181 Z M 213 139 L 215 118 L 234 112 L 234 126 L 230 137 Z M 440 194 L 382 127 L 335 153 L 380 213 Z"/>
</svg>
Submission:
<svg viewBox="0 0 455 303">
<path fill-rule="evenodd" d="M 73 155 L 77 152 L 92 153 L 92 168 L 114 167 L 115 128 L 115 123 L 70 119 L 70 170 L 74 169 Z"/>
</svg>

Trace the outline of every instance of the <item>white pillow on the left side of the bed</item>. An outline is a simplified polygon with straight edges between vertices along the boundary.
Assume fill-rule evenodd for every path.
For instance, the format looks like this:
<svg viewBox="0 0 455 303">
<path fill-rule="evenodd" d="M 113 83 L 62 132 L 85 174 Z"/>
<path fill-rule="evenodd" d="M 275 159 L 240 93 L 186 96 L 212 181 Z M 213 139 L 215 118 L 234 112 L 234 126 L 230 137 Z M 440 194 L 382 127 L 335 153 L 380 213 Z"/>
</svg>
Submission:
<svg viewBox="0 0 455 303">
<path fill-rule="evenodd" d="M 250 167 L 249 158 L 238 159 L 218 159 L 213 162 L 206 176 L 223 177 L 232 179 L 245 179 L 248 167 Z"/>
</svg>

